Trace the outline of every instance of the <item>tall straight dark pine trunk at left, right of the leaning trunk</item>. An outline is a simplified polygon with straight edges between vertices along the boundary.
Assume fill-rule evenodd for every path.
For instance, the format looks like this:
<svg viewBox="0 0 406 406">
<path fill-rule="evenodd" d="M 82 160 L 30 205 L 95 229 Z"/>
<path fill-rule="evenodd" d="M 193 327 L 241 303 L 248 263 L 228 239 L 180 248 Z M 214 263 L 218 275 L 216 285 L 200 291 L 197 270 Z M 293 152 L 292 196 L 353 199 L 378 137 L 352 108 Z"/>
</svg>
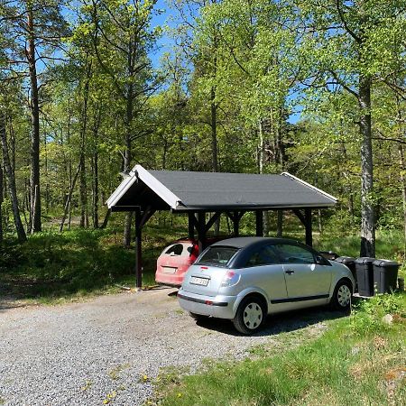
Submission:
<svg viewBox="0 0 406 406">
<path fill-rule="evenodd" d="M 35 55 L 35 33 L 32 9 L 28 10 L 27 28 L 29 32 L 27 60 L 31 84 L 31 232 L 41 231 L 41 189 L 40 189 L 40 106 L 38 100 L 38 78 Z"/>
</svg>

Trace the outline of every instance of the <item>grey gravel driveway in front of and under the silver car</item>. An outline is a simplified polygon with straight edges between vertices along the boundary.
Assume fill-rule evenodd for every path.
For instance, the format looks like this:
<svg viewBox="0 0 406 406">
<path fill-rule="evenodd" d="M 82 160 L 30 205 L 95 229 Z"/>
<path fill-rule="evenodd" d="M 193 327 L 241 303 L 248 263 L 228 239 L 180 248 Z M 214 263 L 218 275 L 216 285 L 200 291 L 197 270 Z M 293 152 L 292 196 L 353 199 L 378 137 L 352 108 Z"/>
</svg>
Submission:
<svg viewBox="0 0 406 406">
<path fill-rule="evenodd" d="M 0 304 L 0 404 L 96 405 L 110 399 L 141 405 L 152 396 L 151 379 L 162 367 L 193 371 L 203 359 L 241 358 L 253 346 L 272 346 L 281 331 L 324 328 L 323 312 L 308 310 L 243 337 L 229 322 L 199 326 L 180 310 L 174 291 L 55 307 Z"/>
</svg>

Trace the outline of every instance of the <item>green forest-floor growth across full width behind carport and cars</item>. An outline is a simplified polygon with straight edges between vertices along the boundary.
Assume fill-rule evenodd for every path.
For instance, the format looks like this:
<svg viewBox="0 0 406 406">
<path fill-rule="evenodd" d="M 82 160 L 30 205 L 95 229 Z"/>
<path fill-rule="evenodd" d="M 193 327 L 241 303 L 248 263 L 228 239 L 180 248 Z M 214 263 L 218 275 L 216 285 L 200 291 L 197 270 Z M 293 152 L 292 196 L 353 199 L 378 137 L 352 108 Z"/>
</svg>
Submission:
<svg viewBox="0 0 406 406">
<path fill-rule="evenodd" d="M 253 235 L 254 215 L 243 217 L 242 235 Z M 122 246 L 122 218 L 112 217 L 106 230 L 72 228 L 59 233 L 50 223 L 49 231 L 30 235 L 24 245 L 0 245 L 0 296 L 20 300 L 56 303 L 77 300 L 97 294 L 120 291 L 116 285 L 134 287 L 134 243 Z M 271 218 L 274 224 L 275 218 Z M 284 236 L 304 239 L 304 229 L 294 216 L 286 216 Z M 154 284 L 156 259 L 172 241 L 187 235 L 187 218 L 170 217 L 167 213 L 152 219 L 143 230 L 143 285 Z M 222 234 L 228 226 L 222 217 Z M 275 235 L 271 230 L 269 235 Z M 402 261 L 401 232 L 377 233 L 377 257 Z M 320 250 L 333 250 L 340 255 L 357 256 L 357 232 L 346 234 L 326 229 L 314 233 L 314 245 Z M 401 275 L 405 276 L 404 270 Z"/>
</svg>

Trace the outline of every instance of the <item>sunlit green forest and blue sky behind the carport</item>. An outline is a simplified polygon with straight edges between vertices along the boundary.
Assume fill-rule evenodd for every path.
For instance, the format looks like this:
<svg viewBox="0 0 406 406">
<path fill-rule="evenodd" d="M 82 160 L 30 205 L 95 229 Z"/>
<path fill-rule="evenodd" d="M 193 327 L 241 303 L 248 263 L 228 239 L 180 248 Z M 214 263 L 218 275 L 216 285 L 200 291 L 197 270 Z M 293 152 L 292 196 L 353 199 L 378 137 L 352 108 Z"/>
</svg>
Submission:
<svg viewBox="0 0 406 406">
<path fill-rule="evenodd" d="M 339 199 L 319 232 L 374 256 L 389 230 L 403 256 L 406 2 L 171 0 L 156 25 L 160 6 L 0 0 L 2 269 L 41 248 L 43 276 L 71 227 L 98 230 L 82 233 L 93 250 L 111 243 L 106 198 L 135 163 L 290 171 Z M 110 226 L 123 257 L 132 222 Z"/>
</svg>

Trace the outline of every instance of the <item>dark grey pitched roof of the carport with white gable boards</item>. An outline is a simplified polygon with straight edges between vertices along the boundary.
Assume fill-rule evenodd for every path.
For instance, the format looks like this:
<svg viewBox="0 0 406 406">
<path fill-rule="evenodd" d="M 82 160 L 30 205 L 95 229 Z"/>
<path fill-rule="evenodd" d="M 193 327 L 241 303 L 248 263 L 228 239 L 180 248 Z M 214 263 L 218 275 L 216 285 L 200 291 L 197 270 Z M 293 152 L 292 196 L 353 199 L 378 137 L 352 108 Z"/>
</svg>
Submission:
<svg viewBox="0 0 406 406">
<path fill-rule="evenodd" d="M 107 200 L 113 211 L 136 208 L 215 211 L 272 208 L 328 208 L 337 198 L 288 172 L 281 175 L 151 171 L 141 165 Z"/>
</svg>

